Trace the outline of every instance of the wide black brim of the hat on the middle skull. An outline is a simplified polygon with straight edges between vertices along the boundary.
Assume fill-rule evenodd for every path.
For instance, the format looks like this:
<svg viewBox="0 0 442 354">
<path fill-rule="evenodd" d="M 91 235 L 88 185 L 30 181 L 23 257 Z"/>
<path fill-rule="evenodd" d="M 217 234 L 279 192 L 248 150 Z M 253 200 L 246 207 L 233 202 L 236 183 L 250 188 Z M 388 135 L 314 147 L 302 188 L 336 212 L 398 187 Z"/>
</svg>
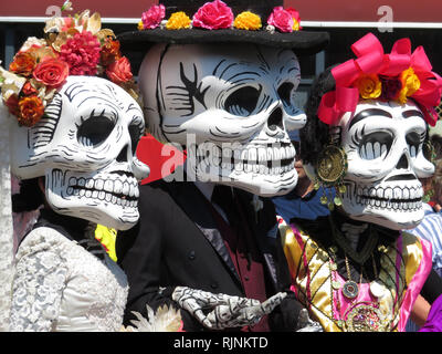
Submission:
<svg viewBox="0 0 442 354">
<path fill-rule="evenodd" d="M 200 44 L 200 43 L 253 43 L 284 49 L 292 49 L 301 55 L 316 54 L 329 42 L 327 32 L 294 31 L 291 33 L 269 31 L 246 31 L 236 29 L 203 30 L 154 29 L 145 31 L 124 32 L 118 37 L 124 50 L 146 50 L 152 43 Z"/>
</svg>

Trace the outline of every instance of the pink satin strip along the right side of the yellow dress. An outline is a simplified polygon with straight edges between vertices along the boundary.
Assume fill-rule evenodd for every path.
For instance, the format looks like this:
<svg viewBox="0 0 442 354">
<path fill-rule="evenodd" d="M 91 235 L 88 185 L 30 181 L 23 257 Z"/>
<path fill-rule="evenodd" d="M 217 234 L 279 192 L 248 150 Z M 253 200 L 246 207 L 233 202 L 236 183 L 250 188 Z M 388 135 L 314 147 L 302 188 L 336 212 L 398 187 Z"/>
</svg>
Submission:
<svg viewBox="0 0 442 354">
<path fill-rule="evenodd" d="M 400 239 L 402 239 L 402 236 Z M 404 332 L 407 321 L 410 316 L 411 310 L 413 309 L 415 299 L 418 299 L 418 295 L 420 294 L 422 287 L 432 269 L 431 243 L 423 239 L 420 239 L 420 241 L 422 243 L 423 256 L 418 271 L 408 284 L 407 293 L 402 302 L 400 320 L 398 324 L 398 330 L 400 332 Z"/>
</svg>

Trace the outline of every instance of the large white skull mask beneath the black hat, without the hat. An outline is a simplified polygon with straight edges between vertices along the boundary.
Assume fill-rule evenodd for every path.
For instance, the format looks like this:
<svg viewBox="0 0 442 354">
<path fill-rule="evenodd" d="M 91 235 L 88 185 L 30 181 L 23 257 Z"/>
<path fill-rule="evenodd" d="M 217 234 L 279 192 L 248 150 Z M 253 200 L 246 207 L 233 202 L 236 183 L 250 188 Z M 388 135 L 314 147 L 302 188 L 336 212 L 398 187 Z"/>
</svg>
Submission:
<svg viewBox="0 0 442 354">
<path fill-rule="evenodd" d="M 261 196 L 296 185 L 286 129 L 302 128 L 306 116 L 294 103 L 301 73 L 292 51 L 158 44 L 139 76 L 151 133 L 187 147 L 197 179 Z"/>
</svg>

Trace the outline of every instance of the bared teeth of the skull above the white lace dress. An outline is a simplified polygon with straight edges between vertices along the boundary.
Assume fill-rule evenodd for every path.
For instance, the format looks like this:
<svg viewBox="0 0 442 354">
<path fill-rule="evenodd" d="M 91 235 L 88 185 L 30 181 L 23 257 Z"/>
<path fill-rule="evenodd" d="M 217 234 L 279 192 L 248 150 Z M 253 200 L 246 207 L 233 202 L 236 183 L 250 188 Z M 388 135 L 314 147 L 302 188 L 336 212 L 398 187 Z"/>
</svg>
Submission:
<svg viewBox="0 0 442 354">
<path fill-rule="evenodd" d="M 118 176 L 119 177 L 119 176 Z M 66 189 L 67 196 L 105 200 L 123 207 L 138 206 L 138 181 L 133 176 L 120 179 L 75 178 L 71 177 Z"/>
</svg>

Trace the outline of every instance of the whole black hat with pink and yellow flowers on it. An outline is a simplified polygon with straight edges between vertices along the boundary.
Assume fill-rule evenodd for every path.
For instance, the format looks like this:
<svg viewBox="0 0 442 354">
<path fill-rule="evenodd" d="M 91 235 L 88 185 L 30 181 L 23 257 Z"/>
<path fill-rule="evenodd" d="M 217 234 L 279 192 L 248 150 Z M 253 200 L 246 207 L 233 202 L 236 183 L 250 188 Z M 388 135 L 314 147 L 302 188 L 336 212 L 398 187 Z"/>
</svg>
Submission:
<svg viewBox="0 0 442 354">
<path fill-rule="evenodd" d="M 124 51 L 147 52 L 165 44 L 256 44 L 320 52 L 329 34 L 304 31 L 299 13 L 282 0 L 162 0 L 141 14 L 138 30 L 118 34 Z"/>
</svg>

